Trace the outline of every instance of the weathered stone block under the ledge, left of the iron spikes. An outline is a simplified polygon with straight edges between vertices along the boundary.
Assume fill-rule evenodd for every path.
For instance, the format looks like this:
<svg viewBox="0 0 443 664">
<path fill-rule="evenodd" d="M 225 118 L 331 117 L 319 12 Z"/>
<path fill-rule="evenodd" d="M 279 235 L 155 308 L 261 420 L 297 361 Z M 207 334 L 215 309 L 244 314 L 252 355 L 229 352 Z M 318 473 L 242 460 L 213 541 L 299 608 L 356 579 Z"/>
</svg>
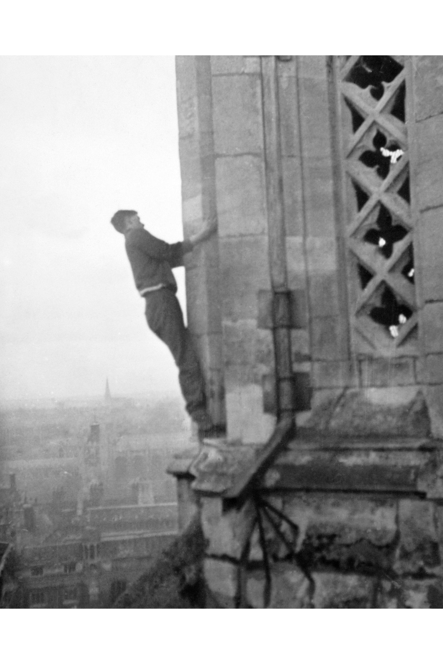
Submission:
<svg viewBox="0 0 443 664">
<path fill-rule="evenodd" d="M 240 509 L 222 511 L 218 497 L 201 498 L 201 527 L 209 540 L 207 554 L 240 560 L 254 524 L 255 510 L 250 501 Z"/>
</svg>

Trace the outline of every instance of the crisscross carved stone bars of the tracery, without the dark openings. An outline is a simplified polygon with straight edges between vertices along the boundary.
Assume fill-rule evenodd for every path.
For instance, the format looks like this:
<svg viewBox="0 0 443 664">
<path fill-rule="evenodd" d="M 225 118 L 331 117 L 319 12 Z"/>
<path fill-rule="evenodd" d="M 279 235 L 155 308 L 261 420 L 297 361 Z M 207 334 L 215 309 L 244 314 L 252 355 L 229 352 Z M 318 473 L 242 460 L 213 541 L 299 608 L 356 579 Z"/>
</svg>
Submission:
<svg viewBox="0 0 443 664">
<path fill-rule="evenodd" d="M 357 185 L 367 195 L 368 199 L 361 208 L 351 213 L 351 218 L 345 228 L 345 240 L 348 249 L 349 261 L 351 262 L 351 274 L 356 282 L 359 282 L 357 265 L 360 264 L 368 270 L 373 277 L 365 288 L 355 289 L 351 299 L 351 324 L 375 350 L 386 349 L 386 334 L 383 326 L 374 323 L 367 313 L 371 301 L 375 301 L 377 295 L 383 288 L 393 291 L 395 297 L 403 302 L 412 311 L 412 315 L 406 323 L 399 326 L 399 335 L 391 340 L 391 347 L 399 347 L 409 333 L 416 327 L 418 316 L 416 313 L 416 297 L 414 284 L 402 274 L 400 263 L 404 263 L 402 257 L 406 252 L 412 251 L 412 234 L 414 223 L 410 214 L 410 207 L 404 197 L 399 195 L 401 189 L 409 177 L 408 159 L 408 135 L 406 124 L 391 114 L 396 103 L 400 88 L 405 85 L 406 76 L 402 58 L 388 58 L 397 62 L 394 66 L 399 74 L 393 80 L 380 82 L 383 86 L 383 94 L 377 100 L 371 95 L 371 84 L 367 88 L 361 88 L 353 78 L 353 70 L 357 66 L 364 66 L 363 56 L 351 56 L 346 60 L 341 59 L 341 70 L 339 73 L 341 99 L 347 105 L 350 112 L 355 112 L 363 119 L 356 131 L 353 131 L 351 123 L 347 135 L 343 136 L 344 167 L 349 186 L 351 183 Z M 369 71 L 369 69 L 368 69 Z M 383 133 L 386 138 L 385 146 L 395 144 L 402 150 L 402 155 L 397 161 L 389 164 L 389 173 L 385 179 L 377 175 L 376 167 L 365 166 L 360 157 L 364 151 L 374 151 L 374 137 L 377 132 Z M 363 240 L 362 229 L 373 226 L 369 220 L 375 215 L 379 205 L 383 205 L 391 214 L 396 224 L 401 224 L 407 231 L 406 236 L 393 245 L 393 252 L 389 259 L 379 252 L 377 246 L 371 245 Z M 353 259 L 351 260 L 351 256 Z"/>
</svg>

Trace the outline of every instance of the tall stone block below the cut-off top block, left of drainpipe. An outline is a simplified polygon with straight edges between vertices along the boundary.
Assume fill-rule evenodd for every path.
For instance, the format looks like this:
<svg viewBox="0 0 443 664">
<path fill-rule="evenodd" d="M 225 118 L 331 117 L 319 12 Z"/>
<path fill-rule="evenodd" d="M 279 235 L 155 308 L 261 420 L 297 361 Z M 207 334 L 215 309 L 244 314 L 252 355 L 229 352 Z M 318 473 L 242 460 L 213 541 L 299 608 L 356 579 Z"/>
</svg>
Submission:
<svg viewBox="0 0 443 664">
<path fill-rule="evenodd" d="M 258 76 L 213 77 L 213 124 L 216 154 L 262 153 L 261 94 Z"/>
</svg>

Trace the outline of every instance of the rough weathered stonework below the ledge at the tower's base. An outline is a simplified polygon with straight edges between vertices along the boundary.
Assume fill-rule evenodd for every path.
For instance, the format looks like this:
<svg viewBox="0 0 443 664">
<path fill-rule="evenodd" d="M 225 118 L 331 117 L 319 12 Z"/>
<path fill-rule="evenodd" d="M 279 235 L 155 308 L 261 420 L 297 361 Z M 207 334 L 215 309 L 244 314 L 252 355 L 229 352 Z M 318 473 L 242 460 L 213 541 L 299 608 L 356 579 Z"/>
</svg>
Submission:
<svg viewBox="0 0 443 664">
<path fill-rule="evenodd" d="M 432 501 L 321 492 L 269 499 L 294 522 L 296 530 L 276 519 L 296 553 L 264 523 L 268 590 L 250 505 L 222 513 L 221 499 L 211 499 L 220 504 L 206 527 L 203 507 L 205 580 L 221 608 L 443 608 L 442 523 Z"/>
</svg>

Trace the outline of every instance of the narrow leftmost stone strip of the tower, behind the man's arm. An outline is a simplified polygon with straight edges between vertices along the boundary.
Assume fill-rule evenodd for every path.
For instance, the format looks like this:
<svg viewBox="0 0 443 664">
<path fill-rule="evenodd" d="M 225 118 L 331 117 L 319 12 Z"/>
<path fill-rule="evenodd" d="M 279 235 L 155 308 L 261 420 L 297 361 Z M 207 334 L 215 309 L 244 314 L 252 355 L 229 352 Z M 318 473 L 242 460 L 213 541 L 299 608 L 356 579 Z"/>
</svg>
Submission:
<svg viewBox="0 0 443 664">
<path fill-rule="evenodd" d="M 209 56 L 177 57 L 179 153 L 185 238 L 216 214 L 211 62 Z M 189 330 L 195 336 L 213 420 L 224 424 L 221 307 L 217 238 L 186 260 Z"/>
</svg>

